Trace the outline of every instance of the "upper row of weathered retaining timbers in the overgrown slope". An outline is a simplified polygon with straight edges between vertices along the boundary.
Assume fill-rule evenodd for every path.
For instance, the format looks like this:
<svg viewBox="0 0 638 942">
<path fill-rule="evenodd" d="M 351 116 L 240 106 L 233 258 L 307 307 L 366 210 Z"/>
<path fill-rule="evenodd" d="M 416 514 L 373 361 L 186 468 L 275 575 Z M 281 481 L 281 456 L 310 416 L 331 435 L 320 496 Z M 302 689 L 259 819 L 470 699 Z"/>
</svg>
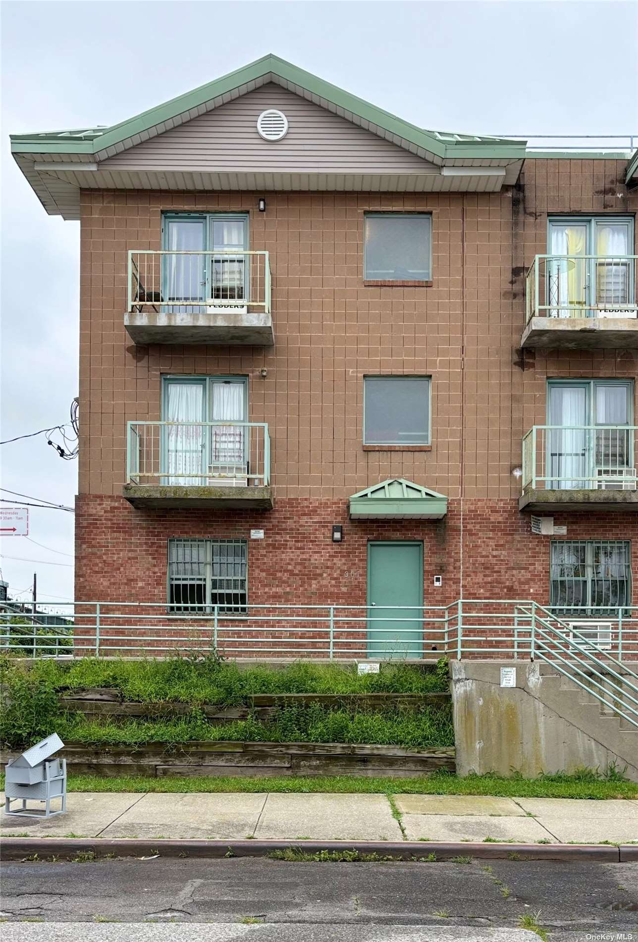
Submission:
<svg viewBox="0 0 638 942">
<path fill-rule="evenodd" d="M 184 716 L 197 708 L 211 723 L 230 723 L 245 720 L 252 715 L 257 720 L 268 720 L 281 707 L 303 706 L 316 703 L 323 707 L 350 707 L 364 710 L 382 710 L 388 707 L 419 710 L 423 707 L 442 709 L 451 702 L 450 693 L 256 693 L 250 703 L 238 707 L 221 707 L 215 704 L 192 704 L 175 702 L 124 703 L 119 690 L 93 688 L 92 690 L 69 690 L 60 697 L 60 707 L 81 712 L 87 716 L 153 717 Z"/>
</svg>

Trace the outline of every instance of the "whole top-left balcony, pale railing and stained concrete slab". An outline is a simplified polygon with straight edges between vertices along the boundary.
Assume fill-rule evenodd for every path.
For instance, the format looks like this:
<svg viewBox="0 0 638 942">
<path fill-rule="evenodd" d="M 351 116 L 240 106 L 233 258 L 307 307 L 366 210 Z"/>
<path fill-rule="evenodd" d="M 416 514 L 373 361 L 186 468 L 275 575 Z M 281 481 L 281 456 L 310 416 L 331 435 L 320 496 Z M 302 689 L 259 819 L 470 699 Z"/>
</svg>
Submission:
<svg viewBox="0 0 638 942">
<path fill-rule="evenodd" d="M 129 252 L 136 344 L 272 347 L 268 252 Z"/>
</svg>

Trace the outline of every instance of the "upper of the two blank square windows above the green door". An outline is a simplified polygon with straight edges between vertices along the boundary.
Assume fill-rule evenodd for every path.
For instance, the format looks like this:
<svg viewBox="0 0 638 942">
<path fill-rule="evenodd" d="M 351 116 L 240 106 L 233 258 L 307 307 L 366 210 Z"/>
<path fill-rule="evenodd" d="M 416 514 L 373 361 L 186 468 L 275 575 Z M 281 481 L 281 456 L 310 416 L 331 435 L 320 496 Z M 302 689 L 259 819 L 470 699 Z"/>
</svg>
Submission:
<svg viewBox="0 0 638 942">
<path fill-rule="evenodd" d="M 417 213 L 366 213 L 366 281 L 413 282 L 432 277 L 432 217 Z"/>
</svg>

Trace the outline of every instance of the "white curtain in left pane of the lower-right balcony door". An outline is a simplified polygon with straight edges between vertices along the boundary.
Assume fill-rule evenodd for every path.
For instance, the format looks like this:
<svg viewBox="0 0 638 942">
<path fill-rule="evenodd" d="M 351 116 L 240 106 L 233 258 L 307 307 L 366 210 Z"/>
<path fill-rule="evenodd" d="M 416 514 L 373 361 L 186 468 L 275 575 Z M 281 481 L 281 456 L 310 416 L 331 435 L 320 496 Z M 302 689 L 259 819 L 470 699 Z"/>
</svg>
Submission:
<svg viewBox="0 0 638 942">
<path fill-rule="evenodd" d="M 583 426 L 587 417 L 587 390 L 582 386 L 550 387 L 550 425 Z M 571 490 L 586 485 L 588 433 L 579 428 L 550 430 L 548 487 Z"/>
</svg>

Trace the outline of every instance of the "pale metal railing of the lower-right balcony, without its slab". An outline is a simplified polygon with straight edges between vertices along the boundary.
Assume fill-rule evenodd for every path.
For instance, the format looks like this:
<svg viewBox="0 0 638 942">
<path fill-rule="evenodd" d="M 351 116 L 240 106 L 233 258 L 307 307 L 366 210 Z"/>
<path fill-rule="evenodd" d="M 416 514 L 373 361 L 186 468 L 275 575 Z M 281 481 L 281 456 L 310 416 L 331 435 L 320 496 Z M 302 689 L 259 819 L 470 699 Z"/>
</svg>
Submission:
<svg viewBox="0 0 638 942">
<path fill-rule="evenodd" d="M 635 491 L 638 426 L 534 425 L 523 438 L 523 494 Z"/>
</svg>

